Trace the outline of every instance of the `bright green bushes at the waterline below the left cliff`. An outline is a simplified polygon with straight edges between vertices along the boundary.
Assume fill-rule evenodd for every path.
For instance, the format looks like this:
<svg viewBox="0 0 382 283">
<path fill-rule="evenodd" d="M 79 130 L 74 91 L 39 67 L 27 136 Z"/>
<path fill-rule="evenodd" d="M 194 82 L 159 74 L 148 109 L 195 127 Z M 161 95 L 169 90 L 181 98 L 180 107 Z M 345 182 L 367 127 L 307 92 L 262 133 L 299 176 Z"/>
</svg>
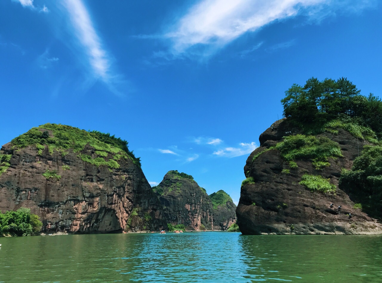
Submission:
<svg viewBox="0 0 382 283">
<path fill-rule="evenodd" d="M 19 208 L 17 211 L 0 213 L 0 235 L 30 236 L 32 232 L 41 229 L 39 216 L 31 214 L 29 208 Z"/>
</svg>

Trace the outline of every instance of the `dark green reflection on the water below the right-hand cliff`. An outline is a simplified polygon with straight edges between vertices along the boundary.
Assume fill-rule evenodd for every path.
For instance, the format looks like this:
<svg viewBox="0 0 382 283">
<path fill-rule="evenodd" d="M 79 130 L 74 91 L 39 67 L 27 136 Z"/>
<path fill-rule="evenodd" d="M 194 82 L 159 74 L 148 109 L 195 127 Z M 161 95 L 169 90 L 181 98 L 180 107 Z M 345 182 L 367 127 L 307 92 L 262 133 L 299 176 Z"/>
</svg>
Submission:
<svg viewBox="0 0 382 283">
<path fill-rule="evenodd" d="M 253 282 L 381 282 L 382 236 L 240 236 Z"/>
</svg>

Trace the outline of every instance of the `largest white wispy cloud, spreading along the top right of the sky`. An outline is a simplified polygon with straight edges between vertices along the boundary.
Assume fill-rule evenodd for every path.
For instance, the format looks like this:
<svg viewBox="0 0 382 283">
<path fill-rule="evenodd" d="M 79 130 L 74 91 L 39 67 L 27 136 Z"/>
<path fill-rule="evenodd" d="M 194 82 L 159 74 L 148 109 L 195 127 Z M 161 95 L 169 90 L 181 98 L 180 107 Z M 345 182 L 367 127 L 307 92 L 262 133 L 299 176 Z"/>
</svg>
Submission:
<svg viewBox="0 0 382 283">
<path fill-rule="evenodd" d="M 362 3 L 361 3 L 362 2 Z M 303 13 L 308 18 L 332 15 L 329 11 L 359 10 L 375 0 L 202 0 L 173 25 L 164 37 L 171 52 L 181 55 L 204 46 L 205 54 L 219 49 L 244 33 Z"/>
</svg>

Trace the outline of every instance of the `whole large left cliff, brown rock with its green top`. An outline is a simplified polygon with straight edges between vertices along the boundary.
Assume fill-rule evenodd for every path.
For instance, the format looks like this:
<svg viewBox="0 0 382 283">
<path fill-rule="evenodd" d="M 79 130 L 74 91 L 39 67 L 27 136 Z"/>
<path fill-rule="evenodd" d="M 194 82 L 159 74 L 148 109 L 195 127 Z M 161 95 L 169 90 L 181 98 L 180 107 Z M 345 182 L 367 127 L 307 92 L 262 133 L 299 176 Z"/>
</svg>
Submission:
<svg viewBox="0 0 382 283">
<path fill-rule="evenodd" d="M 127 142 L 45 124 L 0 150 L 0 211 L 27 207 L 44 233 L 162 229 L 160 202 Z"/>
</svg>

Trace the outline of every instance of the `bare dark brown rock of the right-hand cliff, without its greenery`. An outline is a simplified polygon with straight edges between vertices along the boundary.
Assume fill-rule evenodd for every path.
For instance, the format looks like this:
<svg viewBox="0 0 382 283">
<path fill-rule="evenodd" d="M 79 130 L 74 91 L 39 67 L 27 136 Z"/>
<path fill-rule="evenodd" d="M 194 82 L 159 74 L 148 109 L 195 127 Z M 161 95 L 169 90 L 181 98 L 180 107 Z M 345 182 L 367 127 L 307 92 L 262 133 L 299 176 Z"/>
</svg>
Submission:
<svg viewBox="0 0 382 283">
<path fill-rule="evenodd" d="M 343 157 L 329 159 L 330 166 L 317 171 L 310 160 L 296 160 L 298 168 L 290 169 L 278 150 L 253 156 L 282 141 L 283 136 L 299 133 L 288 127 L 285 119 L 278 120 L 260 135 L 260 147 L 248 157 L 244 167 L 246 177 L 253 182 L 244 184 L 236 214 L 243 234 L 368 234 L 382 233 L 382 226 L 362 211 L 343 190 L 338 189 L 342 168 L 350 169 L 363 146 L 350 133 L 339 130 L 338 135 L 322 133 L 340 145 Z M 289 169 L 289 174 L 282 174 Z M 311 192 L 300 185 L 303 174 L 330 178 L 336 185 L 335 194 Z M 333 203 L 333 208 L 330 208 Z M 337 207 L 342 206 L 340 213 Z M 353 215 L 349 218 L 348 214 Z"/>
</svg>

